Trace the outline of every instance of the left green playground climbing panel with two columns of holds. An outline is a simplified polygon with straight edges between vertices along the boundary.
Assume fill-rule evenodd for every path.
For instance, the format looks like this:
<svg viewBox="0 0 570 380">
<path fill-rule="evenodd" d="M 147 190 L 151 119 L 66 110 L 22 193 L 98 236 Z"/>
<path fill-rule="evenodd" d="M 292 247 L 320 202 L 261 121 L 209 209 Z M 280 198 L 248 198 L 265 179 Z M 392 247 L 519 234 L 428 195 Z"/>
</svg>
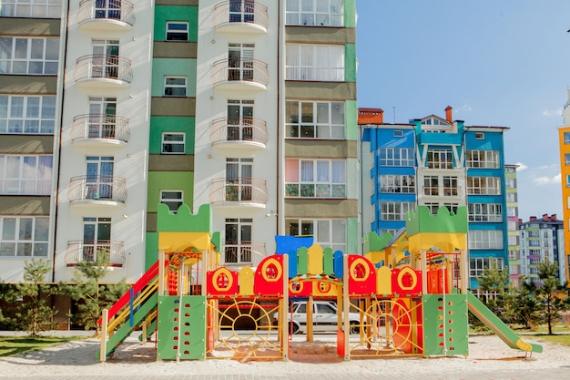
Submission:
<svg viewBox="0 0 570 380">
<path fill-rule="evenodd" d="M 158 297 L 158 360 L 206 358 L 206 297 Z"/>
</svg>

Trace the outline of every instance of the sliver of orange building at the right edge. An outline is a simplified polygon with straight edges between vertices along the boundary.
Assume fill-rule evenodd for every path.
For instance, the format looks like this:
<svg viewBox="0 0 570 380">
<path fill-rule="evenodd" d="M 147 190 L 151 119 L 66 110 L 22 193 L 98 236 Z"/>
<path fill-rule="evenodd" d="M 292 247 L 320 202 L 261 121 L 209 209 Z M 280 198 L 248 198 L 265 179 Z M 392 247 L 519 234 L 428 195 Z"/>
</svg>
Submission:
<svg viewBox="0 0 570 380">
<path fill-rule="evenodd" d="M 563 126 L 558 128 L 558 145 L 560 152 L 560 175 L 562 186 L 562 212 L 563 220 L 570 226 L 570 89 L 568 101 L 562 112 Z M 570 283 L 570 231 L 565 231 L 565 268 L 566 281 Z"/>
</svg>

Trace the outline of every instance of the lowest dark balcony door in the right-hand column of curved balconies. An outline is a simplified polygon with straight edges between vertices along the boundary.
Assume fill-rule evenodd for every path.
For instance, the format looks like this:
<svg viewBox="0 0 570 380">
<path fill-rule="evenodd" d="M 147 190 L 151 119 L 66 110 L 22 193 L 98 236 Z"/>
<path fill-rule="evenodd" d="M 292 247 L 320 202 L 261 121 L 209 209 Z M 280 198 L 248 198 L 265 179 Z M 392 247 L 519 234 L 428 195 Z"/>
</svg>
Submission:
<svg viewBox="0 0 570 380">
<path fill-rule="evenodd" d="M 226 219 L 225 263 L 251 262 L 252 219 Z"/>
</svg>

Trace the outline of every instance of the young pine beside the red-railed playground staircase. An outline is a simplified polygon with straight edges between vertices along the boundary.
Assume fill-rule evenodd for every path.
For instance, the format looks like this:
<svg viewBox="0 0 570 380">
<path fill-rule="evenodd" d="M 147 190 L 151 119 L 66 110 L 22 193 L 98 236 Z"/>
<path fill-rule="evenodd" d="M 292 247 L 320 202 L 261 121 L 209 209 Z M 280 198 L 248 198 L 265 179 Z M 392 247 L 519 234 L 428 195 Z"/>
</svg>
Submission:
<svg viewBox="0 0 570 380">
<path fill-rule="evenodd" d="M 79 262 L 74 275 L 76 284 L 66 285 L 66 293 L 77 302 L 77 311 L 72 315 L 76 323 L 86 330 L 95 329 L 98 333 L 97 320 L 101 311 L 110 307 L 127 291 L 124 281 L 117 284 L 101 284 L 107 274 L 109 254 L 107 250 L 97 252 L 95 262 Z"/>
</svg>

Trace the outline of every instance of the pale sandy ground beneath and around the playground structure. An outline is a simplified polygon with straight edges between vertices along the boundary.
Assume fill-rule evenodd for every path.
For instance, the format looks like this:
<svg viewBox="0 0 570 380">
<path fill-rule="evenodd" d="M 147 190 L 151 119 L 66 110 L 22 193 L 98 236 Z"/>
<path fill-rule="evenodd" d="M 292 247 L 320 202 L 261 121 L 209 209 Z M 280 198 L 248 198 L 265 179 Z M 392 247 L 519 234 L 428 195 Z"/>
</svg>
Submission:
<svg viewBox="0 0 570 380">
<path fill-rule="evenodd" d="M 352 359 L 344 361 L 335 352 L 331 335 L 316 334 L 315 342 L 306 342 L 304 335 L 295 335 L 290 343 L 289 361 L 250 361 L 207 359 L 199 361 L 157 361 L 155 343 L 142 344 L 133 334 L 114 356 L 99 363 L 96 355 L 99 340 L 87 338 L 71 341 L 37 352 L 0 358 L 0 377 L 32 375 L 239 375 L 270 373 L 274 375 L 306 374 L 310 372 L 353 372 L 359 374 L 387 372 L 393 375 L 433 373 L 435 371 L 548 371 L 568 365 L 570 347 L 552 344 L 535 337 L 527 342 L 542 344 L 543 353 L 525 354 L 511 349 L 496 335 L 469 337 L 469 355 L 464 357 L 397 357 L 382 359 Z"/>
</svg>

